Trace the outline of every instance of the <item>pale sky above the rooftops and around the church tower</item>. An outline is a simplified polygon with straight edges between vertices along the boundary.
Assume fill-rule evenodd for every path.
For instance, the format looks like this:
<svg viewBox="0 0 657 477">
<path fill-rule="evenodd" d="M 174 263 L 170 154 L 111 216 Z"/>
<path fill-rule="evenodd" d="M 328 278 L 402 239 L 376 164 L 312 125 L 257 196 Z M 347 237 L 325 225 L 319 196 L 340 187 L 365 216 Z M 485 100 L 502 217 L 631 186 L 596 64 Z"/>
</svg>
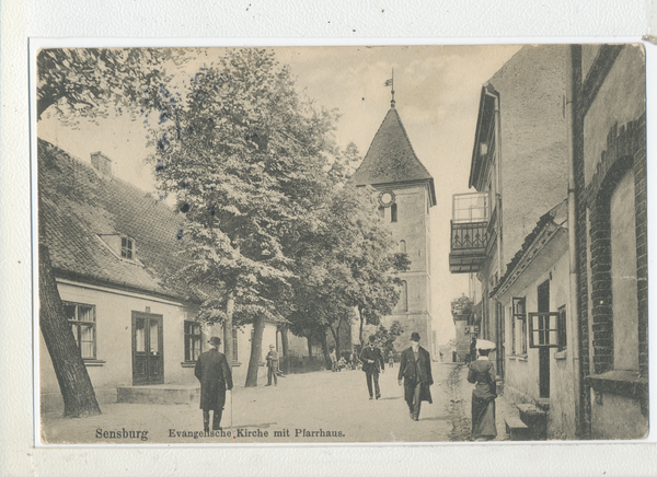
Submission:
<svg viewBox="0 0 657 477">
<path fill-rule="evenodd" d="M 337 108 L 335 139 L 354 142 L 365 156 L 390 108 L 384 83 L 394 70 L 395 106 L 419 161 L 434 176 L 437 205 L 430 211 L 434 329 L 439 344 L 454 337 L 450 302 L 468 294 L 468 275 L 449 272 L 451 197 L 468 189 L 470 161 L 482 85 L 520 46 L 377 46 L 274 48 L 289 65 L 297 89 L 319 107 Z M 208 48 L 178 72 L 182 83 L 197 67 L 209 66 L 223 48 Z M 101 151 L 114 174 L 145 190 L 154 190 L 154 174 L 145 158 L 147 131 L 141 119 L 108 117 L 76 129 L 48 112 L 37 136 L 81 161 Z"/>
</svg>

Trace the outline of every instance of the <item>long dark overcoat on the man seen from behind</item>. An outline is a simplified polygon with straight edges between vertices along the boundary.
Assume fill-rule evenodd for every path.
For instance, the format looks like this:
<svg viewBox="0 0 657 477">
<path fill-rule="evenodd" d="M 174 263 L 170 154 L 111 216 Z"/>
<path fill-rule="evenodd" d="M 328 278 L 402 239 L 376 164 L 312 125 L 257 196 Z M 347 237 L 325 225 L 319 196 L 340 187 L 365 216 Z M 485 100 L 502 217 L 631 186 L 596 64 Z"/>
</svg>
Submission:
<svg viewBox="0 0 657 477">
<path fill-rule="evenodd" d="M 200 408 L 220 410 L 226 404 L 226 389 L 232 389 L 232 373 L 226 356 L 216 349 L 201 353 L 194 374 L 200 381 Z"/>
</svg>

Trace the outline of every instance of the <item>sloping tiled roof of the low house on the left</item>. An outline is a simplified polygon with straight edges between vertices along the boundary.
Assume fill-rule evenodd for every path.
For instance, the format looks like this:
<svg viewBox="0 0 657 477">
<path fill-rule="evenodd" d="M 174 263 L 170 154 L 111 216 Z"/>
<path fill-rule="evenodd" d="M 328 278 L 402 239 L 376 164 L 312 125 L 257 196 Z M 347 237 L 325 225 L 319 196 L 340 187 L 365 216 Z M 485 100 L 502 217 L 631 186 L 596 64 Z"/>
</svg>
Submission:
<svg viewBox="0 0 657 477">
<path fill-rule="evenodd" d="M 145 293 L 185 299 L 183 286 L 163 277 L 182 266 L 184 217 L 117 177 L 102 177 L 91 165 L 38 140 L 39 214 L 45 220 L 55 275 Z M 100 234 L 128 235 L 143 266 L 114 255 Z"/>
</svg>

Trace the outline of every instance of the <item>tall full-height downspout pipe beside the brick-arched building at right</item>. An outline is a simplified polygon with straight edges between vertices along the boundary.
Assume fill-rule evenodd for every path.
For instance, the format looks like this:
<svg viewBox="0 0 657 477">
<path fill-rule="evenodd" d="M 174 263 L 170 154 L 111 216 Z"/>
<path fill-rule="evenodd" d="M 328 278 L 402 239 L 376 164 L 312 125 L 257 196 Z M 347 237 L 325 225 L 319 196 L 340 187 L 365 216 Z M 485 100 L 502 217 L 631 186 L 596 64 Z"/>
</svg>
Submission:
<svg viewBox="0 0 657 477">
<path fill-rule="evenodd" d="M 567 162 L 568 162 L 568 259 L 569 259 L 569 292 L 570 292 L 570 310 L 568 319 L 570 339 L 568 342 L 568 353 L 573 364 L 573 391 L 575 402 L 575 432 L 576 435 L 581 435 L 581 362 L 579 360 L 580 342 L 579 342 L 579 310 L 577 306 L 577 283 L 579 274 L 577 269 L 577 241 L 576 241 L 576 223 L 577 213 L 575 208 L 575 133 L 574 127 L 575 121 L 573 119 L 574 108 L 573 102 L 575 96 L 575 82 L 573 63 L 575 57 L 573 55 L 573 46 L 567 46 L 566 53 L 566 65 L 565 65 L 565 103 L 564 103 L 564 115 L 566 123 L 566 137 L 567 137 Z"/>
</svg>

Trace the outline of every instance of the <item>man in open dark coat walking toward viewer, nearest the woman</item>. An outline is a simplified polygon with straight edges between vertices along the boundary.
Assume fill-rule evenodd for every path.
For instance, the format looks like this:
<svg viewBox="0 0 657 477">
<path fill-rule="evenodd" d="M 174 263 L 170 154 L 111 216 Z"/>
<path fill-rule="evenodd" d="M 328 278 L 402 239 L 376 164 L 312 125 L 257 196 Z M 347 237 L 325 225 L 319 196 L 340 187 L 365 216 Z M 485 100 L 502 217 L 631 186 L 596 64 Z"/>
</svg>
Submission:
<svg viewBox="0 0 657 477">
<path fill-rule="evenodd" d="M 431 357 L 429 352 L 419 346 L 419 334 L 411 334 L 411 348 L 402 351 L 400 373 L 397 380 L 400 386 L 404 379 L 404 399 L 411 411 L 411 419 L 419 420 L 419 407 L 423 400 L 431 404 L 431 392 L 429 386 L 434 384 L 431 376 Z"/>
</svg>

